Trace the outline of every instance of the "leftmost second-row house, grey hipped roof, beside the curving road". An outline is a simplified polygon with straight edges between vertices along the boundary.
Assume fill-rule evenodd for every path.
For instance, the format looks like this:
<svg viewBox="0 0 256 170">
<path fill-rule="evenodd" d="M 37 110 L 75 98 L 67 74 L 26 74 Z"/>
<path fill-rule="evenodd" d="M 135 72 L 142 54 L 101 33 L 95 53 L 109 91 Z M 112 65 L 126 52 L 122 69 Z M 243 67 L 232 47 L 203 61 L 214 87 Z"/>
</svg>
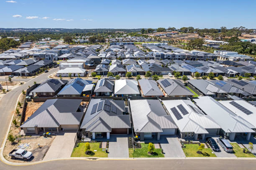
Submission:
<svg viewBox="0 0 256 170">
<path fill-rule="evenodd" d="M 33 97 L 53 97 L 67 84 L 67 80 L 49 79 L 31 91 Z"/>
</svg>

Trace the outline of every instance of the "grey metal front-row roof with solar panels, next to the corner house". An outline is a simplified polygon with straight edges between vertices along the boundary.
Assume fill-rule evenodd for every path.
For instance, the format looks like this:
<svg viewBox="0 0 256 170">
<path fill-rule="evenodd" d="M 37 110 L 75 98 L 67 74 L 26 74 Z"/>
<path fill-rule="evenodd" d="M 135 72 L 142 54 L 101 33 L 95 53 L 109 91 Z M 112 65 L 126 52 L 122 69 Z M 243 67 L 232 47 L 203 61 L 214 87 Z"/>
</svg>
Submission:
<svg viewBox="0 0 256 170">
<path fill-rule="evenodd" d="M 116 107 L 116 113 L 106 111 L 107 99 L 91 99 L 87 107 L 81 129 L 90 132 L 111 132 L 112 128 L 131 128 L 131 120 L 125 112 L 125 102 L 123 100 L 108 100 L 110 107 Z M 99 110 L 99 102 L 103 101 L 103 107 Z M 92 113 L 93 106 L 97 105 L 96 112 Z"/>
</svg>

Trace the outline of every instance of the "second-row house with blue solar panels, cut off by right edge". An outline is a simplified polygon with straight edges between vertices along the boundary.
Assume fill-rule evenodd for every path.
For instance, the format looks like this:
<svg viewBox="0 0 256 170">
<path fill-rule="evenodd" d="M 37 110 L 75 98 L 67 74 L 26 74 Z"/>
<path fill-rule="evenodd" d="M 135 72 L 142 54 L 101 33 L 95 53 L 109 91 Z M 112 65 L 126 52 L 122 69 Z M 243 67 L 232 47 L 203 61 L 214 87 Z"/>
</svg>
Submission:
<svg viewBox="0 0 256 170">
<path fill-rule="evenodd" d="M 252 97 L 256 97 L 256 84 L 252 81 L 228 79 L 226 82 L 228 84 L 232 84 L 232 86 L 237 87 L 238 89 L 246 91 Z"/>
</svg>

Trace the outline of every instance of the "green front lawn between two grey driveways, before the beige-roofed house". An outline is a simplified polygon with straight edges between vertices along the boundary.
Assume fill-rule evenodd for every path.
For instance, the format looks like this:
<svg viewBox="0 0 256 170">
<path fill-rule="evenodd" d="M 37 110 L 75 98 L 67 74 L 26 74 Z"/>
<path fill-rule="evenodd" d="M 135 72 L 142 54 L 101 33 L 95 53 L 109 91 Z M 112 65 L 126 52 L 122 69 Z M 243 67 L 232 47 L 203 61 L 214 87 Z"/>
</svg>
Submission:
<svg viewBox="0 0 256 170">
<path fill-rule="evenodd" d="M 148 155 L 148 144 L 141 143 L 141 149 L 129 149 L 129 157 L 164 157 L 161 149 L 155 149 L 154 155 Z"/>
</svg>

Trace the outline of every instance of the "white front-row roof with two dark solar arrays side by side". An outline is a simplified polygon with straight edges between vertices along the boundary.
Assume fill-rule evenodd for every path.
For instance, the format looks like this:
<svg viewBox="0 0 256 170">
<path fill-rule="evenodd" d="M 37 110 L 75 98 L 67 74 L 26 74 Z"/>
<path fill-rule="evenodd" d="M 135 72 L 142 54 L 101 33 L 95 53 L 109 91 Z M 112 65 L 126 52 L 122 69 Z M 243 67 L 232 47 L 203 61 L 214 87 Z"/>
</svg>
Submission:
<svg viewBox="0 0 256 170">
<path fill-rule="evenodd" d="M 163 100 L 162 101 L 169 114 L 172 116 L 175 124 L 178 126 L 180 132 L 194 132 L 196 134 L 207 134 L 207 129 L 219 129 L 220 126 L 208 115 L 202 112 L 195 112 L 192 107 L 198 109 L 197 106 L 190 100 Z M 188 112 L 183 114 L 178 105 L 182 105 Z M 171 108 L 175 107 L 182 119 L 177 120 L 172 113 Z M 198 109 L 200 111 L 200 109 Z"/>
</svg>

